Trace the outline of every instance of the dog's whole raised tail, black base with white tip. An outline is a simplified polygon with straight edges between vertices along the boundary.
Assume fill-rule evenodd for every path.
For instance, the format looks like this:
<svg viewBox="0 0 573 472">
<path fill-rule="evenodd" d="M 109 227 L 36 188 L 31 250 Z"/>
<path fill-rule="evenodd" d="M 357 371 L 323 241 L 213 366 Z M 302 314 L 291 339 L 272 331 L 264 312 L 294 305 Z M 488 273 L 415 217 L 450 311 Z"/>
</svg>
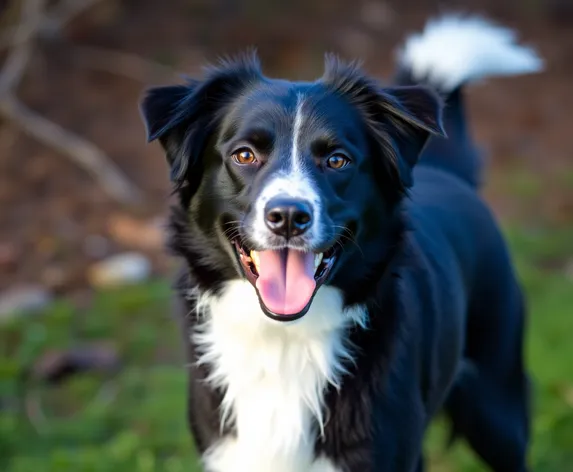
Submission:
<svg viewBox="0 0 573 472">
<path fill-rule="evenodd" d="M 423 84 L 445 100 L 448 138 L 431 138 L 420 162 L 452 172 L 479 186 L 481 157 L 467 129 L 463 88 L 494 76 L 541 71 L 543 61 L 516 43 L 513 31 L 483 18 L 447 15 L 430 21 L 398 51 L 398 85 Z"/>
</svg>

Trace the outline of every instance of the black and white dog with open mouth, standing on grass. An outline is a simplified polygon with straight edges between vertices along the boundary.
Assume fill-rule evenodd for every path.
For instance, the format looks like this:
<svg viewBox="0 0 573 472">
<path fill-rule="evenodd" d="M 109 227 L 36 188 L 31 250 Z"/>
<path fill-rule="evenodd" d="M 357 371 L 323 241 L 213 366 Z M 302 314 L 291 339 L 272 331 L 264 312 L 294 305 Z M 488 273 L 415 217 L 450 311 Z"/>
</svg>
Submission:
<svg viewBox="0 0 573 472">
<path fill-rule="evenodd" d="M 178 195 L 207 471 L 420 471 L 440 410 L 493 470 L 527 468 L 523 299 L 463 87 L 541 60 L 455 16 L 398 58 L 390 87 L 333 57 L 315 82 L 270 79 L 247 56 L 143 99 Z"/>
</svg>

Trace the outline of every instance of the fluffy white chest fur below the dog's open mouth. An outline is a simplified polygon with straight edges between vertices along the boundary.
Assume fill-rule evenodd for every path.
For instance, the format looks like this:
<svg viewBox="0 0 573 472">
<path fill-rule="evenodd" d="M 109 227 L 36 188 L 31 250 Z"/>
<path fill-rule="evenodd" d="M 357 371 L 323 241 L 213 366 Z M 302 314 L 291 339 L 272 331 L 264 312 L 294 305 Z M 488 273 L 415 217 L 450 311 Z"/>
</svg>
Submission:
<svg viewBox="0 0 573 472">
<path fill-rule="evenodd" d="M 204 321 L 193 334 L 208 379 L 224 392 L 221 421 L 233 422 L 236 437 L 225 437 L 205 454 L 208 472 L 336 472 L 314 457 L 316 436 L 327 421 L 323 394 L 339 386 L 350 360 L 345 329 L 365 322 L 365 312 L 342 308 L 342 295 L 324 286 L 300 320 L 267 318 L 255 290 L 230 282 L 218 297 L 198 301 Z"/>
</svg>

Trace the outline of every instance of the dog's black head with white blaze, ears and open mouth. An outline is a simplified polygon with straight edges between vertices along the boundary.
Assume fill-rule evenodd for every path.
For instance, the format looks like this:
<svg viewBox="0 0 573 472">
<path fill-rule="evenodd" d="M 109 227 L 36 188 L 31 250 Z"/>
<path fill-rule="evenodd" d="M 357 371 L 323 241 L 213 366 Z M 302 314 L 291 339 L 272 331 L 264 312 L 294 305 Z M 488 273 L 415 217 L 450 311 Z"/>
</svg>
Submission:
<svg viewBox="0 0 573 472">
<path fill-rule="evenodd" d="M 142 113 L 171 168 L 180 245 L 209 284 L 241 277 L 281 321 L 327 283 L 364 283 L 387 257 L 412 167 L 441 102 L 383 88 L 329 57 L 315 82 L 263 76 L 254 56 L 148 91 Z"/>
</svg>

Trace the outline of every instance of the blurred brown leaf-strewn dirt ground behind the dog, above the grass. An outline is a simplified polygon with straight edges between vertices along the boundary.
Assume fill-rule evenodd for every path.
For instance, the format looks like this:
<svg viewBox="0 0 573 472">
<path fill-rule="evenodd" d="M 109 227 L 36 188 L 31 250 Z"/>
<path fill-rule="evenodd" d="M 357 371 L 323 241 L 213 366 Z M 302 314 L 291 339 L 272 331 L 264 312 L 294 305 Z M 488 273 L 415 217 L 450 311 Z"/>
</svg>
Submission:
<svg viewBox="0 0 573 472">
<path fill-rule="evenodd" d="M 392 49 L 428 15 L 452 8 L 485 13 L 517 28 L 547 61 L 543 74 L 471 89 L 472 126 L 490 158 L 486 196 L 504 217 L 545 225 L 573 214 L 570 3 L 102 0 L 66 28 L 64 39 L 131 52 L 189 74 L 221 54 L 256 45 L 269 75 L 318 76 L 323 52 L 336 51 L 361 57 L 368 71 L 388 77 Z M 161 215 L 169 200 L 162 154 L 145 143 L 137 110 L 150 82 L 86 68 L 68 49 L 66 43 L 40 44 L 19 96 L 101 146 L 145 191 L 146 201 L 121 207 L 66 157 L 2 122 L 0 288 L 39 282 L 66 293 L 85 286 L 89 264 L 130 249 L 111 237 L 110 216 L 148 219 Z M 161 249 L 147 253 L 164 273 L 169 264 Z"/>
</svg>

